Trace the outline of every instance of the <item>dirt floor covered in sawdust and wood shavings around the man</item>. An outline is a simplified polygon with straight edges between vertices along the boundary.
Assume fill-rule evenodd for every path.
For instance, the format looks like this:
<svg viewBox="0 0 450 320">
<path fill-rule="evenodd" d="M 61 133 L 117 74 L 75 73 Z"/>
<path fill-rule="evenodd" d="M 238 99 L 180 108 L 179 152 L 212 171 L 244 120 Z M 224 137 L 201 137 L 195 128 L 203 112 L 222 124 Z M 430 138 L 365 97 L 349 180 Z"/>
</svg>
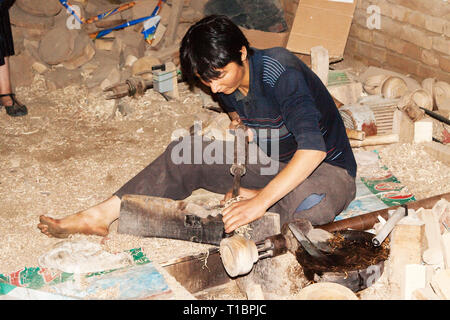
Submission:
<svg viewBox="0 0 450 320">
<path fill-rule="evenodd" d="M 175 129 L 217 113 L 202 108 L 202 97 L 180 84 L 179 102 L 148 90 L 120 106 L 100 91 L 71 86 L 48 92 L 36 75 L 31 87 L 16 90 L 29 115 L 0 113 L 0 273 L 37 266 L 59 239 L 36 227 L 41 214 L 56 218 L 108 198 L 155 159 Z M 450 191 L 448 166 L 430 159 L 417 144 L 377 148 L 382 161 L 417 199 Z M 230 181 L 231 184 L 231 181 Z M 220 199 L 220 195 L 212 195 Z M 156 262 L 199 253 L 210 246 L 184 241 L 137 238 L 116 232 L 101 242 L 110 252 L 141 247 Z"/>
</svg>

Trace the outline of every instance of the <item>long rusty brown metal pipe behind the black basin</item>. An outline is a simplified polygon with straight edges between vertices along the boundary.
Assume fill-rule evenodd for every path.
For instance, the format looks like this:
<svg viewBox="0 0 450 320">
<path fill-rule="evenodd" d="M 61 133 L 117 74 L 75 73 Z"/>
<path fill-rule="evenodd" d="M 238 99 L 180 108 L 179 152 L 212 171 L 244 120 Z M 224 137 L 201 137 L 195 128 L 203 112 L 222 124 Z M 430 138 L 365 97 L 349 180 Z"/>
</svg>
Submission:
<svg viewBox="0 0 450 320">
<path fill-rule="evenodd" d="M 434 206 L 434 204 L 439 201 L 440 199 L 445 199 L 447 201 L 450 201 L 450 192 L 440 194 L 437 196 L 433 196 L 430 198 L 414 201 L 414 202 L 408 202 L 406 205 L 408 209 L 419 209 L 421 207 L 425 209 L 430 209 Z M 396 210 L 401 206 L 393 206 L 373 212 L 369 212 L 366 214 L 361 214 L 356 217 L 351 217 L 348 219 L 343 219 L 335 222 L 330 222 L 328 224 L 324 224 L 321 226 L 317 226 L 317 228 L 323 229 L 328 232 L 333 231 L 340 231 L 340 230 L 346 230 L 346 229 L 354 229 L 354 230 L 367 230 L 371 229 L 375 223 L 378 222 L 378 216 L 383 217 L 385 220 L 389 219 L 389 210 Z"/>
</svg>

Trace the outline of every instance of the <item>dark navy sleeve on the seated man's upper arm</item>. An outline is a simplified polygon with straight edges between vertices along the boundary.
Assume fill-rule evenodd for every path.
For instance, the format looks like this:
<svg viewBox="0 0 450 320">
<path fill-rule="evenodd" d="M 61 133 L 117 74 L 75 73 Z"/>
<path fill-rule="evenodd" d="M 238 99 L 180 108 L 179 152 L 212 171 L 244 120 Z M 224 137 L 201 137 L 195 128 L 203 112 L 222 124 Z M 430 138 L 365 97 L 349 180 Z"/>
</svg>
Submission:
<svg viewBox="0 0 450 320">
<path fill-rule="evenodd" d="M 326 152 L 320 130 L 321 114 L 303 74 L 287 68 L 278 78 L 274 89 L 286 128 L 294 135 L 297 149 Z"/>
</svg>

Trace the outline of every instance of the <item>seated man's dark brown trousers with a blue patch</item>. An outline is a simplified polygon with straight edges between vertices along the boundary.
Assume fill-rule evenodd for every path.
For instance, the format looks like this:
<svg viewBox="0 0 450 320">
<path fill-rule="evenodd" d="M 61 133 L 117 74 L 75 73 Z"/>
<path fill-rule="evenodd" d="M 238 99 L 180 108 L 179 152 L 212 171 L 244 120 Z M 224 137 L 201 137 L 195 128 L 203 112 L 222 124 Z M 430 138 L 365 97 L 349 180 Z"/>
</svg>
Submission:
<svg viewBox="0 0 450 320">
<path fill-rule="evenodd" d="M 251 160 L 252 157 L 248 160 L 241 186 L 261 189 L 286 163 L 271 160 L 261 149 L 251 145 L 254 148 L 250 148 L 249 153 L 255 158 L 256 152 L 251 150 L 257 150 L 257 161 Z M 180 163 L 181 158 L 184 163 Z M 185 137 L 170 143 L 163 154 L 114 194 L 119 198 L 124 194 L 137 194 L 173 200 L 185 199 L 200 188 L 225 194 L 232 186 L 230 167 L 233 160 L 233 142 L 203 140 L 201 136 Z M 322 225 L 332 222 L 355 194 L 355 178 L 347 170 L 323 162 L 269 211 L 280 214 L 281 225 L 299 218 Z"/>
</svg>

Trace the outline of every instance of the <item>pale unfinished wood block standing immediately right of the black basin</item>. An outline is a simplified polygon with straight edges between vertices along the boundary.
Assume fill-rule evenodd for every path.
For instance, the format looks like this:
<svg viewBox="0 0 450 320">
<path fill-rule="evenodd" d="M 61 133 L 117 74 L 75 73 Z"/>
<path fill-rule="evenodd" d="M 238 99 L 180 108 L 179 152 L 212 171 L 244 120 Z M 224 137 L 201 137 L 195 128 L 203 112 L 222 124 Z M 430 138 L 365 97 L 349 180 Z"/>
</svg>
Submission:
<svg viewBox="0 0 450 320">
<path fill-rule="evenodd" d="M 398 224 L 391 233 L 389 283 L 393 295 L 401 297 L 405 266 L 422 262 L 423 225 Z"/>
</svg>

